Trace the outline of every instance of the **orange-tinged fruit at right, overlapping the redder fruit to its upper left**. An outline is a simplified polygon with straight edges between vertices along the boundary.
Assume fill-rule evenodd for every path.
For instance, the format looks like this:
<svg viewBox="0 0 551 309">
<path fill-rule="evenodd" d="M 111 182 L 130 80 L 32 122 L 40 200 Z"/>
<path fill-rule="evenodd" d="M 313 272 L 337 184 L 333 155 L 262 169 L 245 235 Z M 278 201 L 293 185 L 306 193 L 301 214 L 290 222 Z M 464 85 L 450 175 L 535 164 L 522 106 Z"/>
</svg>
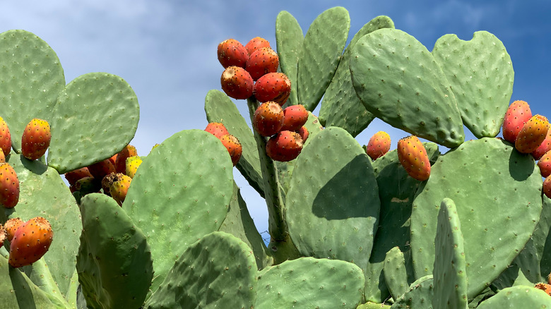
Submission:
<svg viewBox="0 0 551 309">
<path fill-rule="evenodd" d="M 516 136 L 515 148 L 521 153 L 531 153 L 538 149 L 549 131 L 549 121 L 541 115 L 534 115 L 524 123 Z"/>
</svg>

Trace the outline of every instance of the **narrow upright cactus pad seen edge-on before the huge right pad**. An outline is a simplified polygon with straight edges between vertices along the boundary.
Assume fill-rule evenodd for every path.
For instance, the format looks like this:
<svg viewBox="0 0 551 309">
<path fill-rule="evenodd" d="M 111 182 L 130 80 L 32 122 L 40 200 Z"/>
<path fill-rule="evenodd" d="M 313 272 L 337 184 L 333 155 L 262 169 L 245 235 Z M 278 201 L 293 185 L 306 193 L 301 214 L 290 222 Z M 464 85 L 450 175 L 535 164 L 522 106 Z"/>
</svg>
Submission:
<svg viewBox="0 0 551 309">
<path fill-rule="evenodd" d="M 433 308 L 465 309 L 468 306 L 465 251 L 461 222 L 453 200 L 444 198 L 438 212 L 434 239 Z"/>
</svg>

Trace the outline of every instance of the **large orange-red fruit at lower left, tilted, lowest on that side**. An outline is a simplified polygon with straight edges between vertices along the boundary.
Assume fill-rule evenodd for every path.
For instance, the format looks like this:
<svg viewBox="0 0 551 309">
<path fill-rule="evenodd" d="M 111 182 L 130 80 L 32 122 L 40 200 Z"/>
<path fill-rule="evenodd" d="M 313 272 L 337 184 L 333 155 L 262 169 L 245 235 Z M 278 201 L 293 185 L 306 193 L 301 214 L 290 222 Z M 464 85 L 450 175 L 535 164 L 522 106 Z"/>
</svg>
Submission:
<svg viewBox="0 0 551 309">
<path fill-rule="evenodd" d="M 11 267 L 31 265 L 45 255 L 54 232 L 47 219 L 35 217 L 19 226 L 10 243 L 8 263 Z"/>
</svg>

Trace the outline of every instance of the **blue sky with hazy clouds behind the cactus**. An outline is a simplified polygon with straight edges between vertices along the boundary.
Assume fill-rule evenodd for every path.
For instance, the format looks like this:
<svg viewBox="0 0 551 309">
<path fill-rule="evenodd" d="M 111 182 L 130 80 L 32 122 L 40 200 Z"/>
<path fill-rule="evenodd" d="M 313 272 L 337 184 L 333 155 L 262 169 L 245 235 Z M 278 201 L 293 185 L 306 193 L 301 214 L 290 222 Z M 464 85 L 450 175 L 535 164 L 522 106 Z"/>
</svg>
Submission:
<svg viewBox="0 0 551 309">
<path fill-rule="evenodd" d="M 131 144 L 138 154 L 147 154 L 155 143 L 178 131 L 205 128 L 205 95 L 220 90 L 219 42 L 234 38 L 245 44 L 260 36 L 275 47 L 275 17 L 280 11 L 295 16 L 306 33 L 312 20 L 333 6 L 350 12 L 349 39 L 379 15 L 390 16 L 396 28 L 429 50 L 448 33 L 470 40 L 477 30 L 492 32 L 513 61 L 511 100 L 526 100 L 533 114 L 551 117 L 551 1 L 547 0 L 1 1 L 0 31 L 23 29 L 45 40 L 57 52 L 67 83 L 98 71 L 124 78 L 141 107 Z M 236 104 L 242 114 L 247 112 L 243 100 Z M 374 121 L 357 140 L 365 145 L 381 130 L 391 135 L 392 149 L 408 135 Z M 237 170 L 235 177 L 257 228 L 265 231 L 266 205 Z"/>
</svg>

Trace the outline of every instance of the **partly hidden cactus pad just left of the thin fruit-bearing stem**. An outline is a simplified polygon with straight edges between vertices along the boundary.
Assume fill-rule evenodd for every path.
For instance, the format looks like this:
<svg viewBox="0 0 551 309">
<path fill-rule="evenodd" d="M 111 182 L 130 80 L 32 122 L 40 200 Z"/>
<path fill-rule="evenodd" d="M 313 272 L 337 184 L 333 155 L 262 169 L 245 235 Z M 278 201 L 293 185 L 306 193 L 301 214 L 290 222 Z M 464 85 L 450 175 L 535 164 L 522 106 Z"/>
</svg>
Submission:
<svg viewBox="0 0 551 309">
<path fill-rule="evenodd" d="M 223 92 L 210 90 L 205 98 L 205 112 L 209 123 L 223 123 L 227 131 L 239 140 L 243 152 L 236 167 L 251 187 L 263 197 L 262 172 L 256 141 L 251 128 L 247 126 L 247 121 L 239 113 L 235 103 Z"/>
</svg>

